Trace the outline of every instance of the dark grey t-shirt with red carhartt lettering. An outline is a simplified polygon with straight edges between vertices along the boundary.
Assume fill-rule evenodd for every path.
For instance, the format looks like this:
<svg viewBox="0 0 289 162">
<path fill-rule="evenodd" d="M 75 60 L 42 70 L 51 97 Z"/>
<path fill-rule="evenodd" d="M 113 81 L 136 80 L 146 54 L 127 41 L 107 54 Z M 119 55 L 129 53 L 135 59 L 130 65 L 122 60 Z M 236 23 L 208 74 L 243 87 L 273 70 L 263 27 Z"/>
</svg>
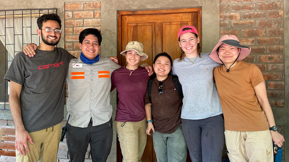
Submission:
<svg viewBox="0 0 289 162">
<path fill-rule="evenodd" d="M 21 115 L 31 133 L 52 127 L 63 120 L 65 80 L 73 58 L 63 48 L 36 50 L 34 57 L 15 55 L 4 79 L 22 85 Z"/>
</svg>

